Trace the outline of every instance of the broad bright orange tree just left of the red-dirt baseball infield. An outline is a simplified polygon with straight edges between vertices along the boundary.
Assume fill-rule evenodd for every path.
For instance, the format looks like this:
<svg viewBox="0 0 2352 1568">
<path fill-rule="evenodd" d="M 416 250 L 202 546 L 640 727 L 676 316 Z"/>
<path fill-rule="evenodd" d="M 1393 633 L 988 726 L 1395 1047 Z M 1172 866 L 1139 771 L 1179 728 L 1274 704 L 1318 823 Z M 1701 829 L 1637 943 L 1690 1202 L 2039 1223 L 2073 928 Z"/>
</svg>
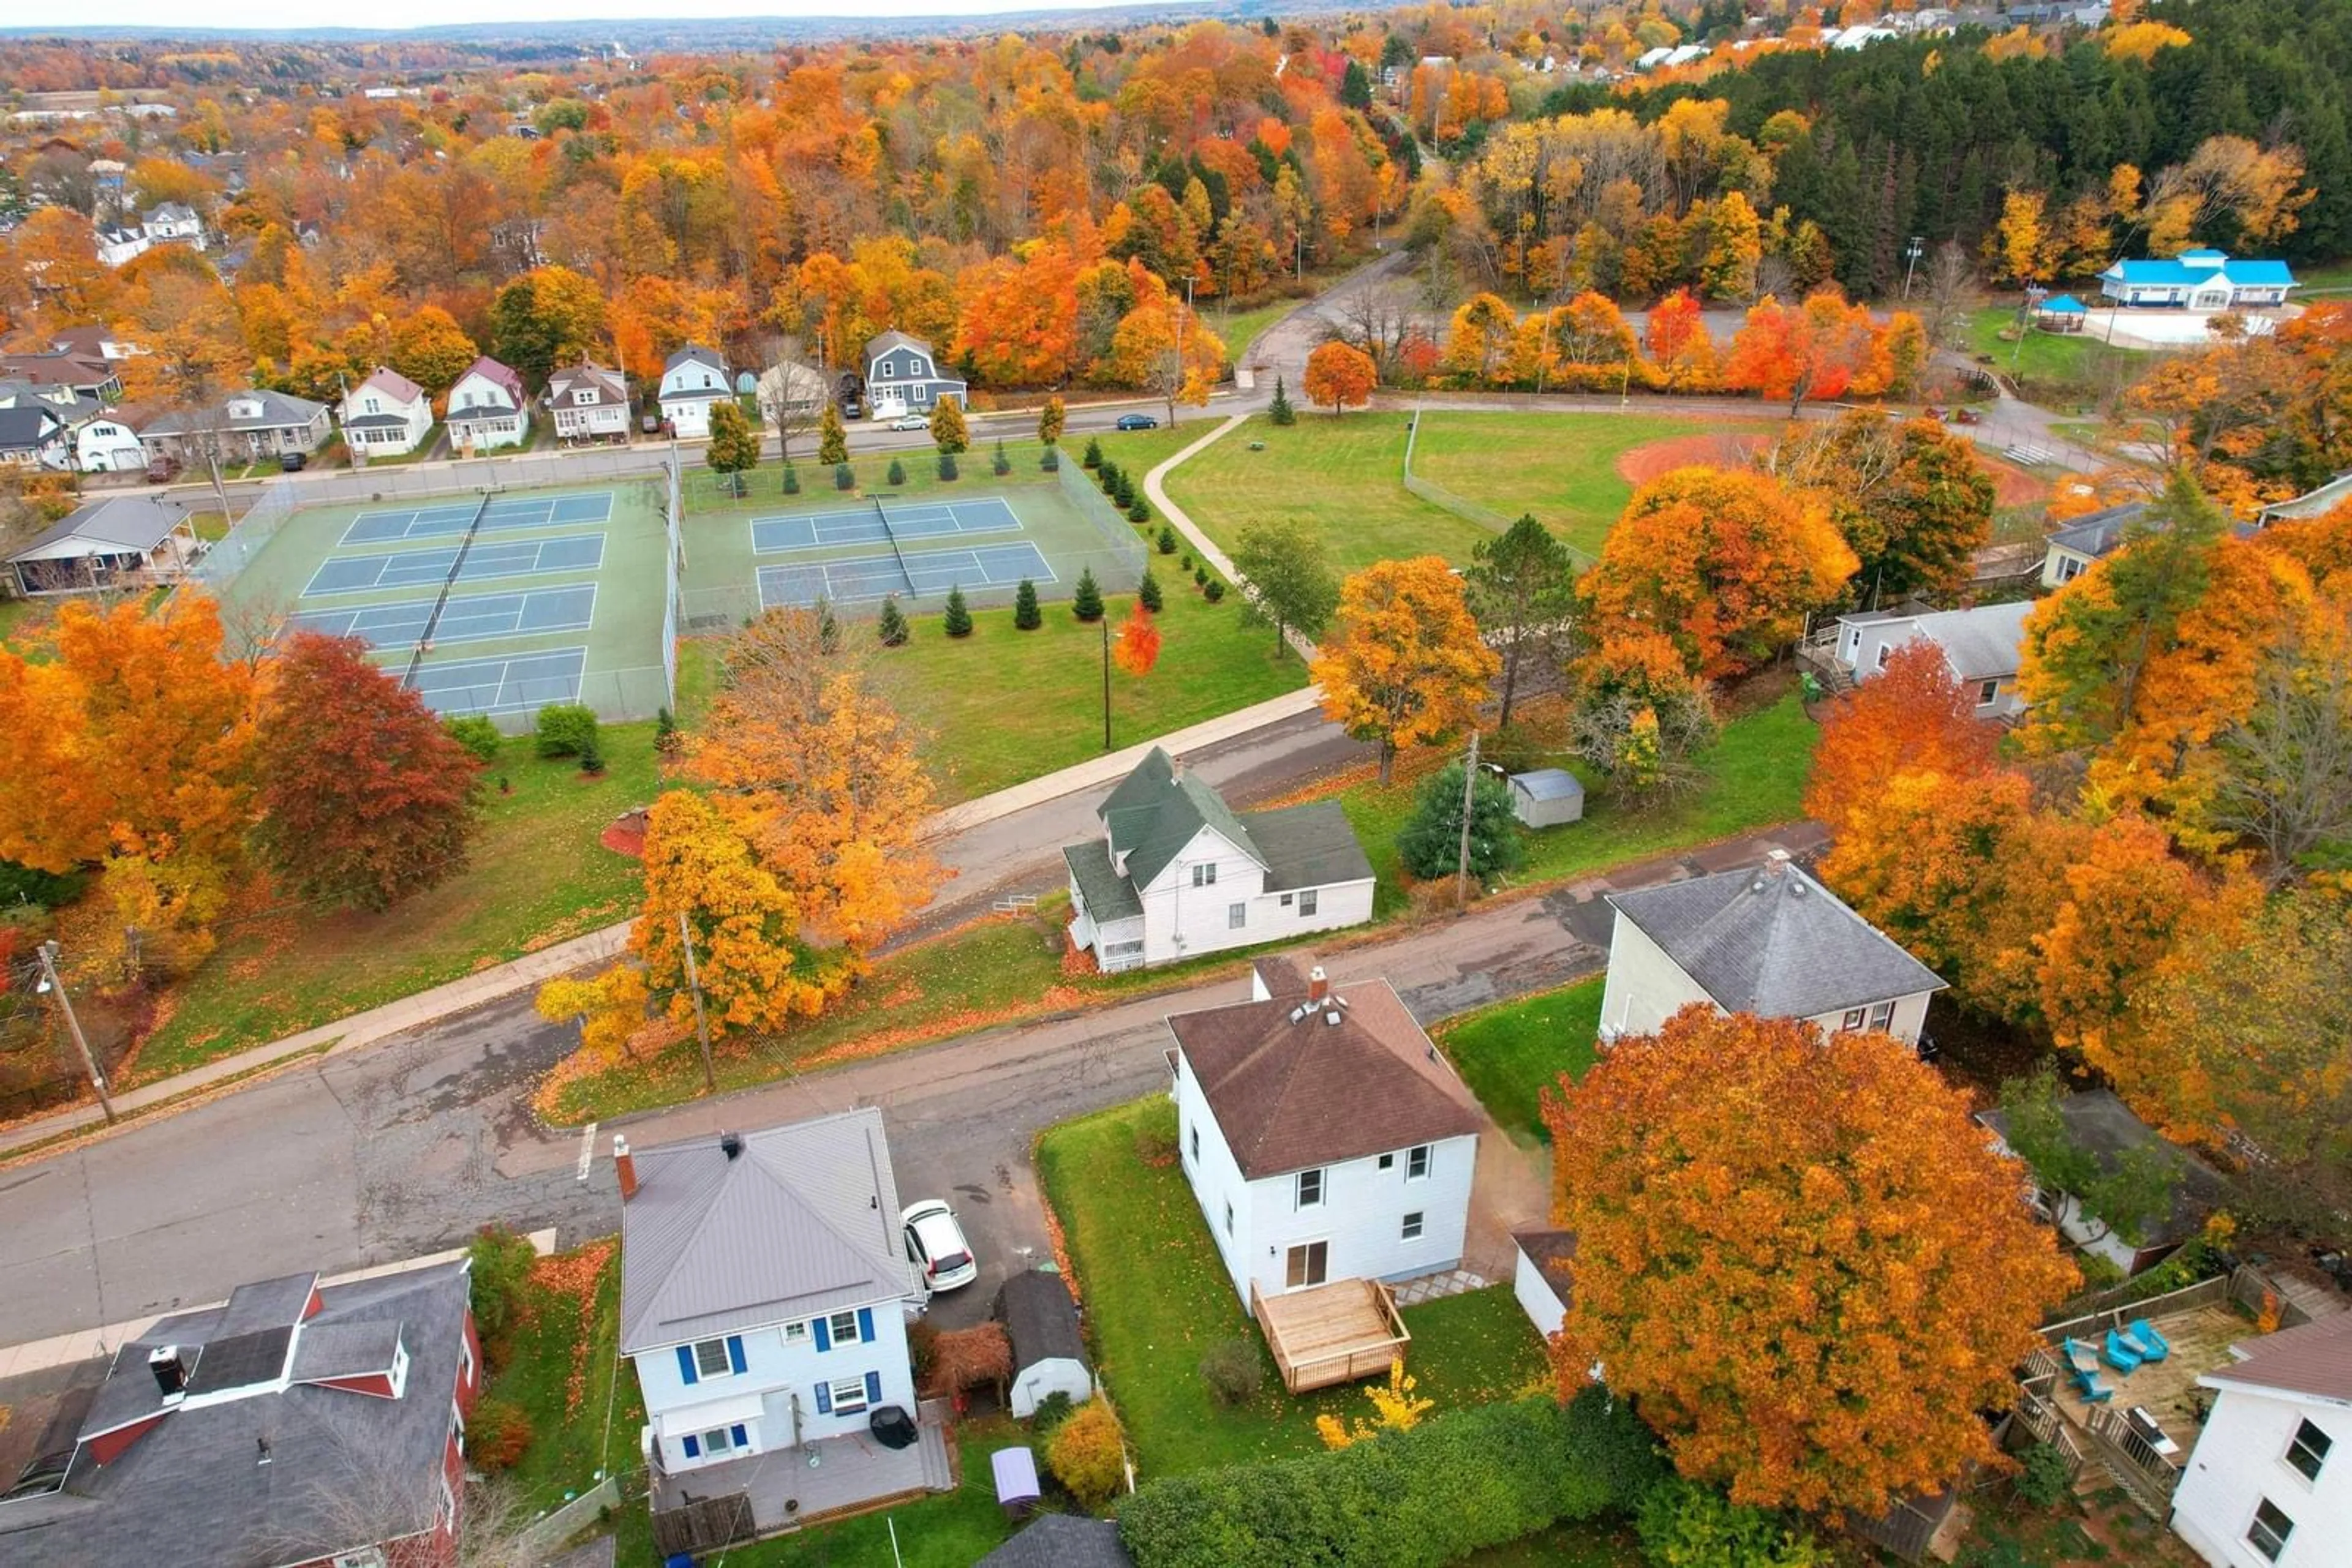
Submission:
<svg viewBox="0 0 2352 1568">
<path fill-rule="evenodd" d="M 1708 679 L 1773 658 L 1853 576 L 1818 496 L 1759 473 L 1677 468 L 1635 491 L 1585 574 L 1592 642 L 1663 632 Z"/>
</svg>

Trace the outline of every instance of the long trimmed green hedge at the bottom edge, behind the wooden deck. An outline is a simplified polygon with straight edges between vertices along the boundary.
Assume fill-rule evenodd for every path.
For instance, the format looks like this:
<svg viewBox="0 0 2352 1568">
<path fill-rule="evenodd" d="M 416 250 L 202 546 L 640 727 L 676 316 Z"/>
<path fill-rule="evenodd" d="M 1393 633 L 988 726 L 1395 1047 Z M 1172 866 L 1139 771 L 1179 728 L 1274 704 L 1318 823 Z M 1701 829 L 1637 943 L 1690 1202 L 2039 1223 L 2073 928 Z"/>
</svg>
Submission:
<svg viewBox="0 0 2352 1568">
<path fill-rule="evenodd" d="M 1152 1481 L 1120 1509 L 1120 1540 L 1138 1568 L 1437 1568 L 1632 1512 L 1663 1474 L 1632 1410 L 1588 1389 L 1571 1406 L 1470 1406 L 1331 1453 Z"/>
</svg>

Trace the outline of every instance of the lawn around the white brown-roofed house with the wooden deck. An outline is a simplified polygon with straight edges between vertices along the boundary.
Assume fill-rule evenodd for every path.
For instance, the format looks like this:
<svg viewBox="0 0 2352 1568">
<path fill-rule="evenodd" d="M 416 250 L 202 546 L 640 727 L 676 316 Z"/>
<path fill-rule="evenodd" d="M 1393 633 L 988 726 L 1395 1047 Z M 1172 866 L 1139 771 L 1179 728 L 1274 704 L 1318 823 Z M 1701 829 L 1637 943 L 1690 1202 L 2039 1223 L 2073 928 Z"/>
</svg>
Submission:
<svg viewBox="0 0 2352 1568">
<path fill-rule="evenodd" d="M 1084 1291 L 1094 1363 L 1127 1420 L 1143 1479 L 1315 1453 L 1315 1415 L 1369 1415 L 1362 1385 L 1291 1396 L 1242 1312 L 1183 1171 L 1148 1166 L 1136 1126 L 1155 1100 L 1063 1121 L 1037 1143 L 1037 1171 Z M 1404 1314 L 1406 1366 L 1439 1410 L 1508 1399 L 1545 1378 L 1543 1345 L 1508 1288 Z M 1265 1385 L 1242 1406 L 1209 1399 L 1202 1354 L 1244 1340 Z"/>
</svg>

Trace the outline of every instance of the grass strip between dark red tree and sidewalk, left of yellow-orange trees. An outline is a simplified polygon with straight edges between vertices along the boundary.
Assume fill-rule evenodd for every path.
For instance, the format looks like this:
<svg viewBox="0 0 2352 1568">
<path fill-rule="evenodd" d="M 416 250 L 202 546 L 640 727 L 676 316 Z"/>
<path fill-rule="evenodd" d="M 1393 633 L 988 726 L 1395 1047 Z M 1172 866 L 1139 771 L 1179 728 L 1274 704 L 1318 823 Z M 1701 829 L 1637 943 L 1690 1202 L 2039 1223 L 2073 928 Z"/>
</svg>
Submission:
<svg viewBox="0 0 2352 1568">
<path fill-rule="evenodd" d="M 604 726 L 602 778 L 506 743 L 487 771 L 466 870 L 383 914 L 259 891 L 160 1009 L 132 1081 L 148 1081 L 583 936 L 637 907 L 637 863 L 597 835 L 654 799 L 652 724 Z M 510 792 L 501 792 L 501 783 Z"/>
</svg>

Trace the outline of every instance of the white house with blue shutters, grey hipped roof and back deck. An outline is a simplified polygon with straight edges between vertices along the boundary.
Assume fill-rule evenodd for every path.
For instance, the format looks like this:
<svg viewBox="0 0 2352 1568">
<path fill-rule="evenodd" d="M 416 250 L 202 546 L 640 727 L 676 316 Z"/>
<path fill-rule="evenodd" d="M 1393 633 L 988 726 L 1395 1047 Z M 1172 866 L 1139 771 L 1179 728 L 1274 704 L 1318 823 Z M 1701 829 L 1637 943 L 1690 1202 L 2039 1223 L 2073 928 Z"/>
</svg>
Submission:
<svg viewBox="0 0 2352 1568">
<path fill-rule="evenodd" d="M 748 1493 L 757 1528 L 950 1486 L 917 1427 L 908 1262 L 882 1112 L 630 1150 L 621 1354 L 654 1512 Z M 891 1446 L 891 1434 L 913 1441 Z"/>
</svg>

